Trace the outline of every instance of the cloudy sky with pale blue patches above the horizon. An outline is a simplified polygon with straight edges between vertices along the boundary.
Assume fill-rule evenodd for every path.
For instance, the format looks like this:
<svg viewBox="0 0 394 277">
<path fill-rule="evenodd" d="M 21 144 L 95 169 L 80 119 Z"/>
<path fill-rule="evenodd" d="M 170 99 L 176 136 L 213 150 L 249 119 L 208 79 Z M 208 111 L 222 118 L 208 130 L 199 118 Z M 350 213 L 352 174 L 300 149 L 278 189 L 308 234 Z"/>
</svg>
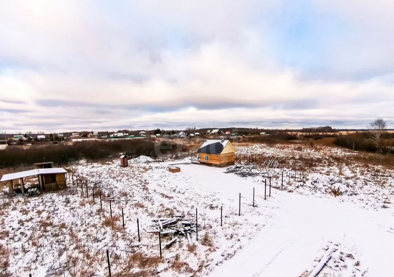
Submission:
<svg viewBox="0 0 394 277">
<path fill-rule="evenodd" d="M 394 125 L 392 1 L 0 2 L 0 132 Z"/>
</svg>

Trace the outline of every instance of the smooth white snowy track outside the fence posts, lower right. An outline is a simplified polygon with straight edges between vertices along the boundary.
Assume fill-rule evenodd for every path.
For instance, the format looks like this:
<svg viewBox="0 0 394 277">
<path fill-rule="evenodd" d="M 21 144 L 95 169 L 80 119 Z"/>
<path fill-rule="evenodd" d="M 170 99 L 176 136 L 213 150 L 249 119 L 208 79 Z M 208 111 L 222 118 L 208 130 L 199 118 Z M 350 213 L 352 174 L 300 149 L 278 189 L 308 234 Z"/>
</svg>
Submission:
<svg viewBox="0 0 394 277">
<path fill-rule="evenodd" d="M 328 242 L 357 247 L 369 276 L 394 276 L 394 218 L 336 199 L 281 193 L 283 208 L 270 225 L 211 277 L 298 277 Z M 391 231 L 391 232 L 390 232 Z"/>
</svg>

